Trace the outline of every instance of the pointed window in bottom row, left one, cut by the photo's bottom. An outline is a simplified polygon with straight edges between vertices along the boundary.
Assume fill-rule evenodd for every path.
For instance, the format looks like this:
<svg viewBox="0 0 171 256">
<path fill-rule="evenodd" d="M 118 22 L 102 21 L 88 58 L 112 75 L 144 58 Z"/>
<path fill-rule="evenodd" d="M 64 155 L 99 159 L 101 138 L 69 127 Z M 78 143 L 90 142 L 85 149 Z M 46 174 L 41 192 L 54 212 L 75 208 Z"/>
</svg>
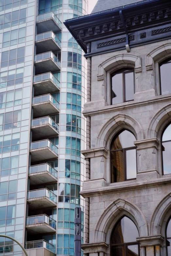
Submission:
<svg viewBox="0 0 171 256">
<path fill-rule="evenodd" d="M 128 217 L 124 216 L 111 234 L 111 256 L 139 256 L 138 229 Z"/>
</svg>

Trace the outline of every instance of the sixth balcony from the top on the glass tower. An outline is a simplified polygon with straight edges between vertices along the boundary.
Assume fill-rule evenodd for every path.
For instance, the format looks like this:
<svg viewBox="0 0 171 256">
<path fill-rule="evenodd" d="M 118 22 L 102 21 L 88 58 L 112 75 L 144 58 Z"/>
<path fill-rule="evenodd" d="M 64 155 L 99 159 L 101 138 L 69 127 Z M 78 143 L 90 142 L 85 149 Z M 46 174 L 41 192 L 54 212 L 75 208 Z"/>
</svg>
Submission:
<svg viewBox="0 0 171 256">
<path fill-rule="evenodd" d="M 31 129 L 33 140 L 59 135 L 59 125 L 50 117 L 32 119 Z"/>
</svg>

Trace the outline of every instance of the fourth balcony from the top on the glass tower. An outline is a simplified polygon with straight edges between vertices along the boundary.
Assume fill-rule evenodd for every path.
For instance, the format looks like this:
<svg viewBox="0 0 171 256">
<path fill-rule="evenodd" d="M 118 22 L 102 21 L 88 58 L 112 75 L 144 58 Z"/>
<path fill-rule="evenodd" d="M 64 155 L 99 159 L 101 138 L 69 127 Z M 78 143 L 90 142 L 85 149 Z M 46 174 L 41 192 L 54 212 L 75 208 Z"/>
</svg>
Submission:
<svg viewBox="0 0 171 256">
<path fill-rule="evenodd" d="M 51 72 L 34 76 L 33 85 L 35 96 L 60 91 L 60 82 Z"/>
</svg>

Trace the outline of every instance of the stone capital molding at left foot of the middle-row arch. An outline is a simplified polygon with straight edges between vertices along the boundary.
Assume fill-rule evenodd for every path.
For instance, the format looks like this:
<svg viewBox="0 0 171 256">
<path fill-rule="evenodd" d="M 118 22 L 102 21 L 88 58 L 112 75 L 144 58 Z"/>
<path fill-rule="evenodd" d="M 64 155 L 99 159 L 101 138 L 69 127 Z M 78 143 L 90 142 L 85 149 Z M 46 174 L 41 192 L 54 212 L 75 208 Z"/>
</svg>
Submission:
<svg viewBox="0 0 171 256">
<path fill-rule="evenodd" d="M 99 157 L 99 156 L 104 156 L 105 158 L 107 158 L 108 150 L 106 147 L 101 147 L 101 148 L 81 150 L 81 153 L 85 156 L 85 159 Z"/>
</svg>

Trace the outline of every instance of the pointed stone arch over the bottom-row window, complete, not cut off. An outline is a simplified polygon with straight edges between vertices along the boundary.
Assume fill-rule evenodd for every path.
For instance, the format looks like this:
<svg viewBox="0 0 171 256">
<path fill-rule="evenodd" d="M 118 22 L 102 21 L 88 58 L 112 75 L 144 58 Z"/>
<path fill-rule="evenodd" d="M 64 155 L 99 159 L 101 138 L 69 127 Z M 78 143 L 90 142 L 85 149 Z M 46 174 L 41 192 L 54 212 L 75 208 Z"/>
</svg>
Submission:
<svg viewBox="0 0 171 256">
<path fill-rule="evenodd" d="M 148 235 L 148 225 L 143 212 L 133 203 L 125 199 L 117 199 L 103 212 L 95 228 L 94 242 L 110 244 L 111 232 L 117 221 L 123 216 L 129 217 L 136 225 L 139 236 Z"/>
</svg>

